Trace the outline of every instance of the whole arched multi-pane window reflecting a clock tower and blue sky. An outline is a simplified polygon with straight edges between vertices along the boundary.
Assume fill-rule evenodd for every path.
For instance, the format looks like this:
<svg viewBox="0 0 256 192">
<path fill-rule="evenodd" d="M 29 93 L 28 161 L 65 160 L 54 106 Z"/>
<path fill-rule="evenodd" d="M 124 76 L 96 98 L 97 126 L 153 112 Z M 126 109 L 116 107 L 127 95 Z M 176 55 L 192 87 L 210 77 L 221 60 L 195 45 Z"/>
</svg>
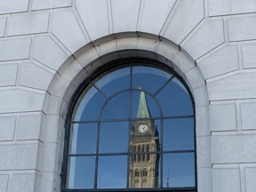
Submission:
<svg viewBox="0 0 256 192">
<path fill-rule="evenodd" d="M 196 192 L 194 102 L 172 68 L 151 60 L 98 68 L 76 91 L 66 126 L 62 192 L 140 191 L 132 182 L 143 167 L 143 188 Z"/>
</svg>

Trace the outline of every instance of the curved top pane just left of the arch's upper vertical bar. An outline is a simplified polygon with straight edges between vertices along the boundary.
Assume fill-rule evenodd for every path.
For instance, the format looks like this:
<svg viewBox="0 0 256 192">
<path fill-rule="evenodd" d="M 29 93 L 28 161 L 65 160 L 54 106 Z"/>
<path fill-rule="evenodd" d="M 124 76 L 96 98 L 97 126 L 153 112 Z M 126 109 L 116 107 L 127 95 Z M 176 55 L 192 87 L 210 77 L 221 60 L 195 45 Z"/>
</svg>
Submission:
<svg viewBox="0 0 256 192">
<path fill-rule="evenodd" d="M 121 68 L 113 71 L 100 78 L 95 84 L 107 96 L 111 96 L 114 92 L 128 89 L 130 87 L 130 68 Z"/>
</svg>

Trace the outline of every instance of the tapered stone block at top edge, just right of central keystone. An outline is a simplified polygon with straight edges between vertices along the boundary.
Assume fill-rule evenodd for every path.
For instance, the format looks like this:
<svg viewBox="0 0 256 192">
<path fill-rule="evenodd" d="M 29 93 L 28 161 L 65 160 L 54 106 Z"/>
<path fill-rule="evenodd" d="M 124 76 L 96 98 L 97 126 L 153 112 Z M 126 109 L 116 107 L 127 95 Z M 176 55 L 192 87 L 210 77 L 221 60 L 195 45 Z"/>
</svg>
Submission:
<svg viewBox="0 0 256 192">
<path fill-rule="evenodd" d="M 143 0 L 138 30 L 158 35 L 175 2 L 175 0 L 162 0 L 159 4 L 155 0 Z"/>
</svg>

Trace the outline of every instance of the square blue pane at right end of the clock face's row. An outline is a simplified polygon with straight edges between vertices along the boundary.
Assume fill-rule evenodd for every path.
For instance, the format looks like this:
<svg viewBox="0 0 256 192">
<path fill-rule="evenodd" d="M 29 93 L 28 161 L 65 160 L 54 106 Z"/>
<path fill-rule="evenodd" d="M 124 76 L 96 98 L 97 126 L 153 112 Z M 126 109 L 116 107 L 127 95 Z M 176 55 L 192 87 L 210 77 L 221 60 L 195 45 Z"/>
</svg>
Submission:
<svg viewBox="0 0 256 192">
<path fill-rule="evenodd" d="M 164 120 L 164 150 L 194 149 L 194 119 Z"/>
</svg>

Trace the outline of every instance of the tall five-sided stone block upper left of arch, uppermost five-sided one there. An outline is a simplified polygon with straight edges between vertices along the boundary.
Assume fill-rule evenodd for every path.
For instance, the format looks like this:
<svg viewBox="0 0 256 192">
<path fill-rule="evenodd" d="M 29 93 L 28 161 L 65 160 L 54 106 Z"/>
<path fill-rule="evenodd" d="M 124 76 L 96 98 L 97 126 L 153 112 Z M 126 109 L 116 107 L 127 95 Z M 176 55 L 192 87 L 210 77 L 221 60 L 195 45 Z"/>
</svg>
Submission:
<svg viewBox="0 0 256 192">
<path fill-rule="evenodd" d="M 53 12 L 52 33 L 72 53 L 87 44 L 82 28 L 71 9 Z"/>
</svg>

